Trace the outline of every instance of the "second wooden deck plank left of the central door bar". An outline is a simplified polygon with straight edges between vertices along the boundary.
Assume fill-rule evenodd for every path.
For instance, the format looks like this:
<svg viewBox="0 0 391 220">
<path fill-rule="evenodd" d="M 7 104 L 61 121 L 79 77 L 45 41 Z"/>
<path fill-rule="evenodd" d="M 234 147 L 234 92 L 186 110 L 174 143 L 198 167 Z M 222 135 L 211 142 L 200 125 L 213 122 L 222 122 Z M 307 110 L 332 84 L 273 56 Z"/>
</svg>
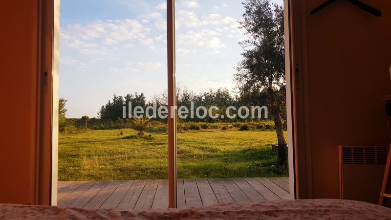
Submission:
<svg viewBox="0 0 391 220">
<path fill-rule="evenodd" d="M 158 179 L 147 180 L 133 210 L 150 209 L 152 207 L 158 183 Z"/>
</svg>

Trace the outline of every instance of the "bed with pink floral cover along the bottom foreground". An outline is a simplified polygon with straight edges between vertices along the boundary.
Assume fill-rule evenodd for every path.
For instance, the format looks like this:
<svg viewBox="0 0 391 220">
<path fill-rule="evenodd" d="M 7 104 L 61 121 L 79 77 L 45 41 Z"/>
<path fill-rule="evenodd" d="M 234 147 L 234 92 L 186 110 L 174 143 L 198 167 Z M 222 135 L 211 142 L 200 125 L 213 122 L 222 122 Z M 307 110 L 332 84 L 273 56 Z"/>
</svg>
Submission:
<svg viewBox="0 0 391 220">
<path fill-rule="evenodd" d="M 339 199 L 278 200 L 252 204 L 219 204 L 166 210 L 87 210 L 55 206 L 0 204 L 0 219 L 27 220 L 169 220 L 169 219 L 391 219 L 391 209 Z"/>
</svg>

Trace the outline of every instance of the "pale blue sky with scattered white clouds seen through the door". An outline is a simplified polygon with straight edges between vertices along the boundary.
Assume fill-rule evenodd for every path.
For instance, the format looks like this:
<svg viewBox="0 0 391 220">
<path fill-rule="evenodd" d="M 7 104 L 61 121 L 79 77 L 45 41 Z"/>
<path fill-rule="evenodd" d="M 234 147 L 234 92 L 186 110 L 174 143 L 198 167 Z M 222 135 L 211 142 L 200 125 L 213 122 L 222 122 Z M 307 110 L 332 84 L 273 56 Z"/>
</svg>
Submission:
<svg viewBox="0 0 391 220">
<path fill-rule="evenodd" d="M 282 5 L 282 0 L 272 0 Z M 176 81 L 195 93 L 234 90 L 241 0 L 177 0 Z M 62 0 L 60 98 L 66 117 L 97 117 L 113 94 L 167 88 L 164 0 Z"/>
</svg>

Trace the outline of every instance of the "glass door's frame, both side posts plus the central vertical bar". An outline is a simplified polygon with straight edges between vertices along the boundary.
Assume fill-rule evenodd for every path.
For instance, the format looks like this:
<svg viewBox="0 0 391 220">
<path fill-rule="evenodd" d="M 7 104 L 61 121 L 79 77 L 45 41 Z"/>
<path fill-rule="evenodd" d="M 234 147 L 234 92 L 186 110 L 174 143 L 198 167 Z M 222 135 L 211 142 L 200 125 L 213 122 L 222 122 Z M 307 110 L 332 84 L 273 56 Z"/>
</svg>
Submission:
<svg viewBox="0 0 391 220">
<path fill-rule="evenodd" d="M 42 66 L 39 73 L 46 73 L 42 77 L 38 74 L 41 83 L 46 82 L 47 92 L 41 95 L 41 118 L 38 123 L 41 142 L 37 155 L 39 163 L 36 167 L 37 187 L 36 204 L 57 205 L 57 179 L 58 179 L 58 100 L 59 100 L 59 36 L 60 36 L 60 0 L 38 0 L 40 2 L 43 28 L 41 53 Z M 285 30 L 285 68 L 286 68 L 286 107 L 287 107 L 287 130 L 288 130 L 288 159 L 289 159 L 289 185 L 292 198 L 298 197 L 299 174 L 297 155 L 308 149 L 299 149 L 297 145 L 298 128 L 295 127 L 297 120 L 296 98 L 297 84 L 295 74 L 292 74 L 294 57 L 293 43 L 295 43 L 292 29 L 293 0 L 284 0 L 284 30 Z M 296 1 L 296 4 L 298 2 Z M 43 16 L 45 15 L 45 16 Z M 47 19 L 50 17 L 51 19 Z M 295 51 L 297 52 L 297 51 Z M 176 83 L 175 83 L 175 0 L 167 0 L 167 78 L 168 78 L 168 157 L 169 157 L 169 207 L 176 208 Z M 43 80 L 44 79 L 44 80 Z M 43 81 L 42 81 L 43 80 Z M 307 164 L 308 165 L 308 164 Z M 301 166 L 302 167 L 302 166 Z M 302 172 L 301 180 L 306 180 L 307 173 Z M 307 187 L 307 184 L 305 184 Z M 303 185 L 304 186 L 304 185 Z M 303 198 L 303 197 L 301 197 Z"/>
</svg>

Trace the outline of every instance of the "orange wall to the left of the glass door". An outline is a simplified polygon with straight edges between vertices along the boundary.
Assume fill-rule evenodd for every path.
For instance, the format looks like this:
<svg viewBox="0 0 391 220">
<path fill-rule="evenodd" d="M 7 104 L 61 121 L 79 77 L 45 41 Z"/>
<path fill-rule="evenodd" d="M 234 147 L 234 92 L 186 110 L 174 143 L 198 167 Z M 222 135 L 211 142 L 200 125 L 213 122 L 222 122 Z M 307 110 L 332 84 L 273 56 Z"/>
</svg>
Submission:
<svg viewBox="0 0 391 220">
<path fill-rule="evenodd" d="M 33 199 L 37 2 L 0 3 L 0 203 Z"/>
</svg>

